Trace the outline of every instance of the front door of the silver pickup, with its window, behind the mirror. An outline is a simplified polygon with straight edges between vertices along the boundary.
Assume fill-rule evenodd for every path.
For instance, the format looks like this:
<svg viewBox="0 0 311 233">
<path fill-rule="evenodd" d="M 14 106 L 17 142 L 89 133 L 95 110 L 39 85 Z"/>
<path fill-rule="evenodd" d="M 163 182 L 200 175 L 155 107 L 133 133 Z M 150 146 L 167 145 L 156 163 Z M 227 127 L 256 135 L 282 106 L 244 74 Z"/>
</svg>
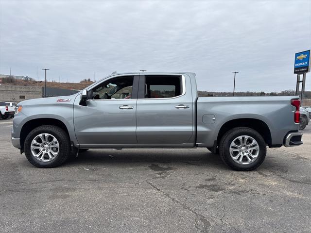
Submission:
<svg viewBox="0 0 311 233">
<path fill-rule="evenodd" d="M 135 144 L 139 76 L 108 78 L 88 90 L 86 106 L 74 103 L 74 128 L 80 147 Z M 118 146 L 116 145 L 116 146 Z"/>
</svg>

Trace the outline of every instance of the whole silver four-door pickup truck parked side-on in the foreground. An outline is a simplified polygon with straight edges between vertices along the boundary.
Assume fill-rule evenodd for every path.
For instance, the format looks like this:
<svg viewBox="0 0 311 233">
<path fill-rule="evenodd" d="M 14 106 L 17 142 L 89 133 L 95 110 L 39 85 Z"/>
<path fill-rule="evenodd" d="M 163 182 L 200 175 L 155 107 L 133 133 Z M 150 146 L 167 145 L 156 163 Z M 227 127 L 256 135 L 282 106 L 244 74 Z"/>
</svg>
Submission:
<svg viewBox="0 0 311 233">
<path fill-rule="evenodd" d="M 122 73 L 71 96 L 20 102 L 12 143 L 37 167 L 90 148 L 204 147 L 248 171 L 267 146 L 301 145 L 298 128 L 298 97 L 198 97 L 194 73 Z"/>
</svg>

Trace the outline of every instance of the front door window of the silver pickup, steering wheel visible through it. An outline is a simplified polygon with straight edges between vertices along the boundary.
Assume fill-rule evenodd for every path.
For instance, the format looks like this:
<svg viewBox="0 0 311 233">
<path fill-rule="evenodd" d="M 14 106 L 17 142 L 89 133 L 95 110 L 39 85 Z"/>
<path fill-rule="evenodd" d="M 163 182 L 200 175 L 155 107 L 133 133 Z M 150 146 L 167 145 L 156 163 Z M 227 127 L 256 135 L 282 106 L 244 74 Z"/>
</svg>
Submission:
<svg viewBox="0 0 311 233">
<path fill-rule="evenodd" d="M 134 76 L 110 79 L 92 89 L 93 100 L 122 100 L 132 98 Z"/>
</svg>

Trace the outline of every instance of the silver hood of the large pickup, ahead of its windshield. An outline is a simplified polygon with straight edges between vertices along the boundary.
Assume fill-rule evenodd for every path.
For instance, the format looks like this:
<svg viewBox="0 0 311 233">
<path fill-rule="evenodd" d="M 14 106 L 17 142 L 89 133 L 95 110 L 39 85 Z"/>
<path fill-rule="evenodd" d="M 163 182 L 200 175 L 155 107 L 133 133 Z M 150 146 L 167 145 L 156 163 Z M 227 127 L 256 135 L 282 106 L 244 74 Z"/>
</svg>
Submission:
<svg viewBox="0 0 311 233">
<path fill-rule="evenodd" d="M 27 105 L 54 104 L 54 103 L 72 103 L 73 104 L 73 101 L 77 95 L 80 95 L 80 92 L 75 93 L 71 96 L 56 96 L 56 97 L 24 100 L 24 101 L 19 102 L 17 105 L 27 106 Z"/>
</svg>

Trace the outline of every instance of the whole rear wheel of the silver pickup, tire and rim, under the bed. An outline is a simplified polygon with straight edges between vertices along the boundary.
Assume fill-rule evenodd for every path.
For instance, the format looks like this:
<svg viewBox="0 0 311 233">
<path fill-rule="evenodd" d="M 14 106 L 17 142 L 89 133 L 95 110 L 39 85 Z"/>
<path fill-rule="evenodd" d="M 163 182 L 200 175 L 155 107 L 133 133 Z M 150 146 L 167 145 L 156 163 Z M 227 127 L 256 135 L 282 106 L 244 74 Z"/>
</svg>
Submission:
<svg viewBox="0 0 311 233">
<path fill-rule="evenodd" d="M 256 169 L 262 164 L 267 153 L 262 136 L 247 127 L 237 127 L 225 133 L 219 149 L 225 164 L 239 171 Z"/>
</svg>

